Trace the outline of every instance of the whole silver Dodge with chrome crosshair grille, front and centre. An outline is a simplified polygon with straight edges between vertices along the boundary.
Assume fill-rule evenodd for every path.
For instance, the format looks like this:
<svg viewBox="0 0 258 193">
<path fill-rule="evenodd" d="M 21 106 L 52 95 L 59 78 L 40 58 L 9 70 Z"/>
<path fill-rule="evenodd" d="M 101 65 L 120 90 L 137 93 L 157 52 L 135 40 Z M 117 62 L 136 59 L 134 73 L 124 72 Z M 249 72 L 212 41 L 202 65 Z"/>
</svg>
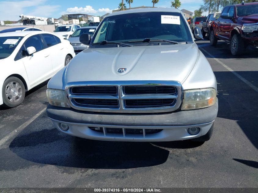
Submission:
<svg viewBox="0 0 258 193">
<path fill-rule="evenodd" d="M 89 48 L 49 81 L 47 114 L 63 133 L 107 141 L 208 141 L 216 78 L 178 9 L 110 14 Z M 195 39 L 194 39 L 195 38 Z"/>
</svg>

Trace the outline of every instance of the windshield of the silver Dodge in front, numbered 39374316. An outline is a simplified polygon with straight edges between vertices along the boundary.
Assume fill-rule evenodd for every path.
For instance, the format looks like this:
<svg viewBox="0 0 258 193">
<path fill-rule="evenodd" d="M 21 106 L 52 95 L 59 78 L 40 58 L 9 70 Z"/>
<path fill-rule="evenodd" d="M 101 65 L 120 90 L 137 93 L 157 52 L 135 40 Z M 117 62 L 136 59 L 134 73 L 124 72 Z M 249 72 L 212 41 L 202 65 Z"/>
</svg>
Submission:
<svg viewBox="0 0 258 193">
<path fill-rule="evenodd" d="M 177 42 L 193 41 L 188 24 L 180 13 L 143 12 L 105 17 L 91 42 L 126 43 L 145 38 Z"/>
</svg>

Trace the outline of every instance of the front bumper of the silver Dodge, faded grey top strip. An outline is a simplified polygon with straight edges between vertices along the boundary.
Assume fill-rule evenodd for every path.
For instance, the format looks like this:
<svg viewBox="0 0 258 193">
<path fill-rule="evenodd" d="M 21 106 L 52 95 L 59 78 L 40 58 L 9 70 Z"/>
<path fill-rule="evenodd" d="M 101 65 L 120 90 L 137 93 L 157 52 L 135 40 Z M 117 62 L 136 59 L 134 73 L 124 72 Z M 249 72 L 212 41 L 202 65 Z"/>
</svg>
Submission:
<svg viewBox="0 0 258 193">
<path fill-rule="evenodd" d="M 178 141 L 198 138 L 205 135 L 218 113 L 218 100 L 208 108 L 177 111 L 166 114 L 97 114 L 48 105 L 47 114 L 58 130 L 63 133 L 95 140 L 106 141 Z M 67 131 L 60 129 L 60 123 L 69 126 Z M 101 133 L 89 127 L 121 129 L 161 129 L 154 134 L 114 134 Z M 199 127 L 200 132 L 190 135 L 189 127 Z"/>
</svg>

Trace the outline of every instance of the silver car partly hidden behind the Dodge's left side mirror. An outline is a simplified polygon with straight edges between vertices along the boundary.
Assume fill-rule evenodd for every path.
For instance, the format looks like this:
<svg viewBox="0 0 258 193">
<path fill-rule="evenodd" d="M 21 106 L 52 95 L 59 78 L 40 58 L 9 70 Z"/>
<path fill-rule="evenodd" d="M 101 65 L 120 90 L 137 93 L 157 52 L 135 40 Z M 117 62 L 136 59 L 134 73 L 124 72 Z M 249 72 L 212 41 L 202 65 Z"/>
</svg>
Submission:
<svg viewBox="0 0 258 193">
<path fill-rule="evenodd" d="M 71 42 L 72 46 L 74 47 L 74 52 L 78 54 L 79 52 L 82 52 L 83 50 L 89 48 L 89 45 L 82 44 L 80 42 L 80 35 L 81 34 L 90 34 L 93 36 L 96 26 L 92 27 L 81 27 L 78 30 L 76 30 L 72 35 L 71 38 L 68 39 L 68 41 Z"/>
</svg>

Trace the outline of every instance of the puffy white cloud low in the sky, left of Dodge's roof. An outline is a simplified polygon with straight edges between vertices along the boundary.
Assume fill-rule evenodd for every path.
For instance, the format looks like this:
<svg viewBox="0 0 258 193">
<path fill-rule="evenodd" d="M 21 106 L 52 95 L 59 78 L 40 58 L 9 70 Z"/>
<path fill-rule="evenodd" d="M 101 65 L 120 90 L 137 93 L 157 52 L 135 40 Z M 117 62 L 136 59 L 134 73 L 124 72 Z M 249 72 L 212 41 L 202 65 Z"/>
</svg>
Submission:
<svg viewBox="0 0 258 193">
<path fill-rule="evenodd" d="M 61 14 L 67 13 L 84 13 L 84 14 L 93 14 L 93 15 L 103 15 L 105 13 L 112 13 L 112 9 L 109 8 L 101 8 L 98 10 L 93 9 L 92 6 L 86 5 L 85 7 L 70 7 L 66 9 L 66 12 L 62 12 Z"/>
</svg>

